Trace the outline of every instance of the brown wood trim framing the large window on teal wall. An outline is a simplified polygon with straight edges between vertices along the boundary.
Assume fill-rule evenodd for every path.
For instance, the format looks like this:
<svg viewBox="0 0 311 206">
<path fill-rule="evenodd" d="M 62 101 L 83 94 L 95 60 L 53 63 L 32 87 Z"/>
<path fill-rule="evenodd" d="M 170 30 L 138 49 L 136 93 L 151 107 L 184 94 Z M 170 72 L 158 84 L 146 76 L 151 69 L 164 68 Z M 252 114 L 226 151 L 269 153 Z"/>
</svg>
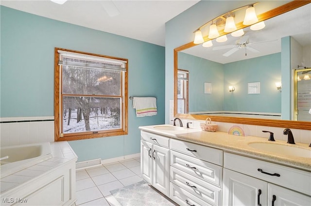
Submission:
<svg viewBox="0 0 311 206">
<path fill-rule="evenodd" d="M 59 53 L 58 50 L 74 52 L 79 54 L 85 55 L 92 55 L 97 57 L 104 57 L 109 59 L 116 59 L 126 61 L 126 72 L 124 72 L 124 99 L 123 99 L 123 107 L 121 109 L 122 116 L 123 116 L 123 129 L 111 129 L 109 131 L 98 131 L 98 133 L 86 134 L 81 133 L 81 135 L 69 135 L 66 137 L 61 137 L 60 132 L 60 65 L 58 64 L 59 61 Z M 121 88 L 122 90 L 122 88 Z M 121 94 L 123 91 L 121 91 Z M 54 48 L 54 140 L 57 141 L 72 141 L 72 140 L 84 140 L 84 139 L 92 139 L 92 138 L 100 138 L 100 137 L 111 137 L 111 136 L 121 136 L 128 134 L 128 60 L 123 58 L 105 56 L 100 54 L 93 54 L 81 51 L 75 51 L 70 49 L 64 48 Z"/>
</svg>

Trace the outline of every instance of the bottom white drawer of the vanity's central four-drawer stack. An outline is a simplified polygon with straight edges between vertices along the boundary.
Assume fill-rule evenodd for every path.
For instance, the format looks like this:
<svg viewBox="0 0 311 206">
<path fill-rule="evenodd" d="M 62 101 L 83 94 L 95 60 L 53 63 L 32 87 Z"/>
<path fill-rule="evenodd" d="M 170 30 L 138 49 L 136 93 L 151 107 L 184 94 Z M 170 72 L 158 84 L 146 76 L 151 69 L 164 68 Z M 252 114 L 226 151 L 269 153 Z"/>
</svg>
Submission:
<svg viewBox="0 0 311 206">
<path fill-rule="evenodd" d="M 172 182 L 170 183 L 170 198 L 180 206 L 212 206 Z"/>
</svg>

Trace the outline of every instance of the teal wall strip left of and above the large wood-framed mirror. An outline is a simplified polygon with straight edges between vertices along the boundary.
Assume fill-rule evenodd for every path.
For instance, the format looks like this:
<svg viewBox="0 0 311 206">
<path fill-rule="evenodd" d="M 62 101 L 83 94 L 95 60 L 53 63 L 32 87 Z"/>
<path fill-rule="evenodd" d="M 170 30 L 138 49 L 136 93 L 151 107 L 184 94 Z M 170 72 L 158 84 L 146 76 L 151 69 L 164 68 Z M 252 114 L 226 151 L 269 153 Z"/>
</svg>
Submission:
<svg viewBox="0 0 311 206">
<path fill-rule="evenodd" d="M 290 2 L 289 0 L 259 0 L 256 11 L 270 10 Z M 262 2 L 262 3 L 261 3 Z M 244 6 L 254 1 L 249 0 L 201 0 L 183 13 L 175 16 L 165 24 L 165 122 L 169 123 L 169 100 L 173 99 L 173 49 L 187 44 L 194 39 L 198 27 L 215 16 L 220 16 L 230 10 Z M 260 5 L 263 5 L 262 8 Z M 257 9 L 261 7 L 260 9 Z M 287 80 L 286 80 L 287 81 Z M 283 79 L 282 79 L 283 84 Z M 283 94 L 283 92 L 282 92 Z"/>
</svg>

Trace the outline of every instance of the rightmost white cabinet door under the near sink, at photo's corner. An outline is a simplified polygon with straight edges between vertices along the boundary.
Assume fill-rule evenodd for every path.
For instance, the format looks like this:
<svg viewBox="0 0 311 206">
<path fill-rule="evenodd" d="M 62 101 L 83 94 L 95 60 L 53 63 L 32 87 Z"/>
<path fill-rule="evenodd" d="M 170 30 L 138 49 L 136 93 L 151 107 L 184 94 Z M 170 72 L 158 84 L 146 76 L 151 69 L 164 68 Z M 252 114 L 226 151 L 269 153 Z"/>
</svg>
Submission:
<svg viewBox="0 0 311 206">
<path fill-rule="evenodd" d="M 268 183 L 268 206 L 310 206 L 311 197 Z"/>
</svg>

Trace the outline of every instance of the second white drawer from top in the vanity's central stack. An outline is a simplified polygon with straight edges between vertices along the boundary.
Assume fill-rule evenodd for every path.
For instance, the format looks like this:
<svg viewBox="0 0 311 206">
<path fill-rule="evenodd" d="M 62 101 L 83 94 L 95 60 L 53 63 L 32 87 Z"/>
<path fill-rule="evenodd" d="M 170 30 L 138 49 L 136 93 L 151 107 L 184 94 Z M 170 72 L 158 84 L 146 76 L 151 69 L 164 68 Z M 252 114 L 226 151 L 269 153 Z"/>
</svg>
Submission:
<svg viewBox="0 0 311 206">
<path fill-rule="evenodd" d="M 171 166 L 193 177 L 222 187 L 223 167 L 171 151 Z"/>
</svg>

